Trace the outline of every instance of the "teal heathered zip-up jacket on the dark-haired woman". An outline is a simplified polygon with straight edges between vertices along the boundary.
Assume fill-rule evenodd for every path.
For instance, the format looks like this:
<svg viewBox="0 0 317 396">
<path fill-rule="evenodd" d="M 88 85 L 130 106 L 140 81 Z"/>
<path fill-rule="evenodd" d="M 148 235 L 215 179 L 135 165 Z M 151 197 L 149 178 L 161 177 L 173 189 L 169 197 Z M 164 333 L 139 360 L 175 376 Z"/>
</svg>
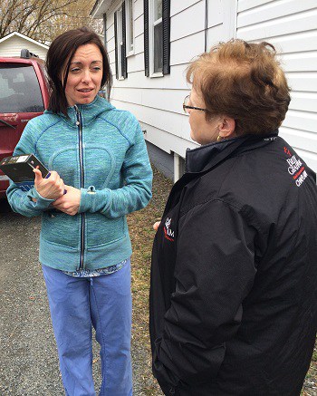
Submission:
<svg viewBox="0 0 317 396">
<path fill-rule="evenodd" d="M 111 266 L 131 255 L 126 215 L 151 198 L 146 144 L 137 119 L 99 96 L 68 108 L 68 116 L 45 111 L 29 121 L 14 155 L 34 153 L 65 184 L 80 188 L 79 213 L 53 213 L 53 200 L 14 182 L 7 198 L 14 212 L 42 215 L 43 265 L 65 271 Z"/>
</svg>

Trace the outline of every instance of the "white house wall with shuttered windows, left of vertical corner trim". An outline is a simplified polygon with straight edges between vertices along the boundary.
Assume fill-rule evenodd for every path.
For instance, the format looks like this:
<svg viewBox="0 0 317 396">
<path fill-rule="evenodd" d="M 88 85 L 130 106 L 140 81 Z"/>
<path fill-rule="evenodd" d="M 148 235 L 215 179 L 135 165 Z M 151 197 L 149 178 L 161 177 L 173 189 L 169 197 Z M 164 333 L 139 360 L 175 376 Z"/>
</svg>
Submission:
<svg viewBox="0 0 317 396">
<path fill-rule="evenodd" d="M 223 27 L 224 9 L 231 0 L 208 1 L 207 43 L 229 39 L 231 35 Z M 205 0 L 171 1 L 170 8 L 170 74 L 147 78 L 144 75 L 144 22 L 143 0 L 134 2 L 135 53 L 128 57 L 129 76 L 118 81 L 115 77 L 114 11 L 121 1 L 113 2 L 107 13 L 107 49 L 113 73 L 112 103 L 133 112 L 143 130 L 146 140 L 158 148 L 155 157 L 164 163 L 168 153 L 185 158 L 187 148 L 197 147 L 190 139 L 187 115 L 182 103 L 190 91 L 186 82 L 188 63 L 205 50 Z M 216 13 L 215 13 L 216 10 Z M 195 18 L 193 18 L 195 15 Z M 191 24 L 188 24 L 191 21 Z M 184 49 L 186 48 L 186 51 Z M 154 148 L 151 151 L 154 153 Z M 151 153 L 150 153 L 151 154 Z M 164 171 L 164 169 L 162 169 Z M 167 174 L 167 172 L 166 172 Z"/>
</svg>

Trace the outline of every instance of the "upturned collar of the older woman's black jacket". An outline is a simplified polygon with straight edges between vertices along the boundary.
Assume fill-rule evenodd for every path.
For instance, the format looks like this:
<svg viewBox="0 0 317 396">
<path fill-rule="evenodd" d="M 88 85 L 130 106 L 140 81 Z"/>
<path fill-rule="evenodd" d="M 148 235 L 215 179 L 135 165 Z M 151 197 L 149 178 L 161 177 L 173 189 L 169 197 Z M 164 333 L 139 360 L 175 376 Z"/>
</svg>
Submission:
<svg viewBox="0 0 317 396">
<path fill-rule="evenodd" d="M 197 147 L 197 149 L 186 152 L 186 171 L 188 173 L 199 173 L 210 169 L 216 163 L 226 159 L 228 155 L 235 151 L 241 153 L 245 150 L 253 150 L 259 144 L 267 144 L 278 135 L 278 130 L 274 130 L 267 135 L 245 135 L 238 138 L 216 141 Z M 247 144 L 244 144 L 247 143 Z"/>
</svg>

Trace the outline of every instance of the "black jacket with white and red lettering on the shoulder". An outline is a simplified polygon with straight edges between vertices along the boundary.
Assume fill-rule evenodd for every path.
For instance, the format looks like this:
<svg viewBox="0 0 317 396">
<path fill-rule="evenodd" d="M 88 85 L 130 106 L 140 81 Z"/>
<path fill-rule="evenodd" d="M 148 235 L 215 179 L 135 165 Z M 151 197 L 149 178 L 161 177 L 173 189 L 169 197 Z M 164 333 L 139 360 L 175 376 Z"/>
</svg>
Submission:
<svg viewBox="0 0 317 396">
<path fill-rule="evenodd" d="M 315 178 L 277 132 L 187 151 L 152 252 L 165 394 L 300 394 L 317 327 Z"/>
</svg>

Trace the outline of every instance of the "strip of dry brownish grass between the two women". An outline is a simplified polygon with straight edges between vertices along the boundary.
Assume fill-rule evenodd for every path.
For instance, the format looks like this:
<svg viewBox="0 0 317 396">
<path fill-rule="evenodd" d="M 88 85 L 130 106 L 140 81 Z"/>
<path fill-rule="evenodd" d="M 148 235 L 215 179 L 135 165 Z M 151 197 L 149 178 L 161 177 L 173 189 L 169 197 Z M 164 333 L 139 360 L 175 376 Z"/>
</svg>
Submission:
<svg viewBox="0 0 317 396">
<path fill-rule="evenodd" d="M 155 236 L 153 224 L 159 220 L 165 208 L 172 182 L 157 169 L 153 169 L 153 198 L 147 208 L 128 216 L 130 238 L 133 246 L 131 257 L 131 290 L 133 299 L 132 343 L 143 352 L 140 392 L 138 396 L 162 394 L 151 372 L 149 345 L 149 273 L 152 244 Z"/>
</svg>

